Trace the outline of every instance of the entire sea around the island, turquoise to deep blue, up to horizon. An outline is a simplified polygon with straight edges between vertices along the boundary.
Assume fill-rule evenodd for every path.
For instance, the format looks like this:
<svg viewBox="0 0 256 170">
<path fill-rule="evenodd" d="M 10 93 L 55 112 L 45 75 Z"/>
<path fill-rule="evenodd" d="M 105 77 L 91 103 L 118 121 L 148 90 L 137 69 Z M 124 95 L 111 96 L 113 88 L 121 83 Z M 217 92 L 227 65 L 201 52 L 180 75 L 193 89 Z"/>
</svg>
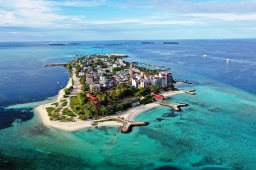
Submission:
<svg viewBox="0 0 256 170">
<path fill-rule="evenodd" d="M 44 65 L 102 53 L 171 67 L 196 95 L 167 100 L 189 104 L 181 112 L 145 111 L 130 134 L 44 126 L 33 109 L 69 79 Z M 0 42 L 0 59 L 0 169 L 256 169 L 256 39 Z"/>
</svg>

